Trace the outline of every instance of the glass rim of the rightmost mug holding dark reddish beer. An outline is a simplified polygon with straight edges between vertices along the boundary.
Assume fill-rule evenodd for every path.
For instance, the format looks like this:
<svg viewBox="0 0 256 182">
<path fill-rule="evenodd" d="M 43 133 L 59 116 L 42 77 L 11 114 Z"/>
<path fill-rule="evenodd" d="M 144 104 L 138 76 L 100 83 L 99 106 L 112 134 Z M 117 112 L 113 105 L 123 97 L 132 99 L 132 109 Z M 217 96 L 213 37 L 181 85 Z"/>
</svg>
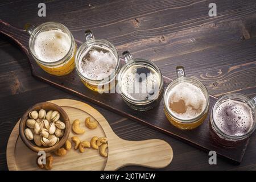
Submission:
<svg viewBox="0 0 256 182">
<path fill-rule="evenodd" d="M 213 112 L 214 112 L 214 110 L 217 109 L 218 104 L 221 104 L 223 101 L 228 100 L 228 99 L 236 99 L 236 100 L 245 102 L 246 104 L 250 103 L 250 105 L 248 104 L 250 106 L 250 108 L 251 108 L 251 105 L 254 107 L 254 108 L 251 108 L 253 110 L 253 114 L 254 114 L 254 121 L 253 121 L 254 127 L 251 127 L 251 129 L 246 134 L 243 134 L 243 135 L 240 135 L 240 136 L 228 135 L 228 134 L 225 134 L 224 132 L 222 132 L 219 129 L 219 127 L 216 125 L 216 123 L 213 119 Z M 241 94 L 241 93 L 225 94 L 224 96 L 218 98 L 218 100 L 214 103 L 214 105 L 212 107 L 212 112 L 210 114 L 210 123 L 212 125 L 212 129 L 218 135 L 221 135 L 222 137 L 224 137 L 226 139 L 229 139 L 229 140 L 236 141 L 236 140 L 241 140 L 241 139 L 245 139 L 245 138 L 249 137 L 254 132 L 254 130 L 256 129 L 255 107 L 256 106 L 255 106 L 255 103 L 253 102 L 253 99 L 251 99 L 250 97 L 245 96 L 244 94 Z"/>
</svg>

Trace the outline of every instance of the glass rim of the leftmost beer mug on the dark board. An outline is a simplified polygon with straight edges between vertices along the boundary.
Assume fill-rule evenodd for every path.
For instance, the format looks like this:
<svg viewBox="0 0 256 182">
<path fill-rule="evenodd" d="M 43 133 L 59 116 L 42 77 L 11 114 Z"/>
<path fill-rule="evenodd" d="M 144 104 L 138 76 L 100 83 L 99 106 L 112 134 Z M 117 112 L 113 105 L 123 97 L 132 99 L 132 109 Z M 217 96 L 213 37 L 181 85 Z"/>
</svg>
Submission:
<svg viewBox="0 0 256 182">
<path fill-rule="evenodd" d="M 66 60 L 71 59 L 73 54 L 73 49 L 75 48 L 76 43 L 75 43 L 75 39 L 73 38 L 73 35 L 68 30 L 68 28 L 64 26 L 64 24 L 61 24 L 59 22 L 45 22 L 45 23 L 39 24 L 38 26 L 34 27 L 34 29 L 32 29 L 33 27 L 34 26 L 30 26 L 28 27 L 28 30 L 27 30 L 28 34 L 30 34 L 30 39 L 28 40 L 28 46 L 30 47 L 30 52 L 36 61 L 38 61 L 40 64 L 47 65 L 47 66 L 57 66 L 65 63 Z M 44 32 L 44 28 L 47 28 L 47 30 L 51 30 L 51 28 L 52 30 L 54 30 L 54 28 L 61 28 L 61 31 L 67 34 L 71 39 L 71 45 L 69 47 L 67 54 L 63 56 L 60 60 L 46 62 L 46 61 L 40 60 L 38 56 L 35 55 L 34 47 L 32 46 L 33 45 L 32 43 L 34 43 L 35 41 L 34 39 L 36 38 L 39 32 Z"/>
</svg>

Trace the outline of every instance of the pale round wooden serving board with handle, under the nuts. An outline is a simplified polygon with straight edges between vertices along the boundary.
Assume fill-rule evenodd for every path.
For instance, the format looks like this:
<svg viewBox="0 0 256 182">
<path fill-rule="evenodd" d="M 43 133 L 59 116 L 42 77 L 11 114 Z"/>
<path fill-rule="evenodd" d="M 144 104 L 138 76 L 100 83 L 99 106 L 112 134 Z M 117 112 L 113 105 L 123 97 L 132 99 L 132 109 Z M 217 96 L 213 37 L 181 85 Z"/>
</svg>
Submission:
<svg viewBox="0 0 256 182">
<path fill-rule="evenodd" d="M 124 166 L 144 166 L 149 168 L 163 168 L 171 163 L 173 152 L 171 146 L 164 140 L 150 139 L 142 141 L 128 141 L 119 138 L 109 126 L 108 121 L 96 109 L 84 102 L 61 99 L 48 101 L 61 106 L 71 121 L 86 117 L 93 117 L 100 124 L 96 129 L 89 130 L 83 123 L 85 134 L 76 135 L 72 131 L 69 140 L 74 135 L 81 140 L 90 140 L 92 137 L 108 138 L 108 158 L 98 154 L 98 150 L 85 148 L 84 153 L 72 149 L 65 156 L 53 154 L 52 170 L 116 170 Z M 16 123 L 7 144 L 7 166 L 9 170 L 40 170 L 36 165 L 36 152 L 31 151 L 19 137 L 19 122 Z"/>
</svg>

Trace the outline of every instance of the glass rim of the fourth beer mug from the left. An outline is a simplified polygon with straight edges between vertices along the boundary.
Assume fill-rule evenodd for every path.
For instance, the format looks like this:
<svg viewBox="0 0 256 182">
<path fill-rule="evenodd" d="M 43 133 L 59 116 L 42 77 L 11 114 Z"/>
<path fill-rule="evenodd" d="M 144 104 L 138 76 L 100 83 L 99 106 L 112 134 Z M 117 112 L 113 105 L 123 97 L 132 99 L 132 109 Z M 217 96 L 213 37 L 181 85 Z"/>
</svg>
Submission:
<svg viewBox="0 0 256 182">
<path fill-rule="evenodd" d="M 171 113 L 170 109 L 169 109 L 169 106 L 167 105 L 168 104 L 168 101 L 167 101 L 167 94 L 169 92 L 169 90 L 172 88 L 172 86 L 174 86 L 175 84 L 177 83 L 181 83 L 181 82 L 188 82 L 188 81 L 191 81 L 193 85 L 195 84 L 199 84 L 201 87 L 199 87 L 198 85 L 195 85 L 197 88 L 199 88 L 203 93 L 204 93 L 204 96 L 205 96 L 205 93 L 207 94 L 207 96 L 205 97 L 206 99 L 206 103 L 205 103 L 205 108 L 204 110 L 199 114 L 197 115 L 197 117 L 195 118 L 191 118 L 191 119 L 180 119 L 180 118 L 177 118 L 174 114 Z M 195 83 L 195 84 L 194 84 Z M 202 89 L 203 88 L 203 89 Z M 174 81 L 172 81 L 166 88 L 165 92 L 164 92 L 164 108 L 166 109 L 167 113 L 169 115 L 171 115 L 172 118 L 175 119 L 175 121 L 178 121 L 180 123 L 183 123 L 183 124 L 189 124 L 189 123 L 194 123 L 194 122 L 197 122 L 199 119 L 201 119 L 205 113 L 208 112 L 209 110 L 209 103 L 210 103 L 210 98 L 209 98 L 209 93 L 208 93 L 208 90 L 207 88 L 205 87 L 205 85 L 197 80 L 196 78 L 192 78 L 192 77 L 187 77 L 187 76 L 181 76 L 181 77 L 178 77 L 176 78 Z"/>
</svg>

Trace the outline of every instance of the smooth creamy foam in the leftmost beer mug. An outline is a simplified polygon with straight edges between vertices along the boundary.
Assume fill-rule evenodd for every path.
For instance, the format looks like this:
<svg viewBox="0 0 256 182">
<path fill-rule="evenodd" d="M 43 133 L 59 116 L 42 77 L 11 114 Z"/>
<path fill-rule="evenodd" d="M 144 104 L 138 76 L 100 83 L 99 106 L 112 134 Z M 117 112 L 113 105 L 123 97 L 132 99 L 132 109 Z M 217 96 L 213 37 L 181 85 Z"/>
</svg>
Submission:
<svg viewBox="0 0 256 182">
<path fill-rule="evenodd" d="M 35 39 L 35 55 L 44 62 L 54 62 L 67 55 L 71 47 L 71 39 L 63 31 L 48 30 L 40 32 Z"/>
</svg>

